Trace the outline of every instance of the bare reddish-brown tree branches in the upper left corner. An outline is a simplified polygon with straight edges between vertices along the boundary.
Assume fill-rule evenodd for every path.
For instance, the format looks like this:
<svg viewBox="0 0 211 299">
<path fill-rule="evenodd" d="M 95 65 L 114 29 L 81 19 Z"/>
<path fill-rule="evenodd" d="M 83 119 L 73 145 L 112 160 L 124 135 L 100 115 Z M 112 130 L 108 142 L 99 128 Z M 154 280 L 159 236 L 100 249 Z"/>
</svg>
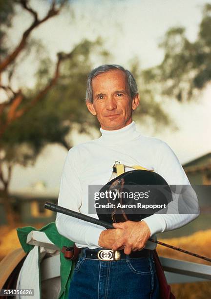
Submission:
<svg viewBox="0 0 211 299">
<path fill-rule="evenodd" d="M 11 16 L 14 14 L 13 5 L 17 3 L 21 5 L 22 9 L 28 11 L 32 15 L 33 21 L 31 25 L 23 32 L 21 41 L 11 52 L 9 52 L 9 50 L 5 47 L 3 47 L 1 51 L 0 75 L 3 72 L 6 73 L 8 85 L 0 85 L 0 88 L 7 92 L 8 99 L 7 101 L 0 104 L 0 137 L 12 121 L 21 117 L 26 111 L 28 111 L 31 107 L 36 105 L 36 103 L 43 98 L 43 96 L 48 92 L 48 90 L 56 84 L 59 77 L 61 62 L 64 59 L 71 57 L 71 53 L 63 55 L 61 53 L 58 53 L 55 71 L 51 80 L 48 82 L 48 84 L 43 86 L 43 88 L 34 96 L 34 98 L 27 103 L 27 105 L 21 107 L 21 104 L 24 101 L 24 94 L 21 89 L 14 91 L 12 86 L 10 85 L 11 76 L 16 61 L 21 52 L 27 46 L 27 42 L 32 31 L 35 30 L 38 26 L 40 26 L 42 23 L 49 20 L 50 18 L 58 15 L 65 2 L 66 0 L 52 0 L 47 14 L 42 19 L 40 19 L 38 13 L 30 7 L 28 0 L 9 0 L 8 4 L 5 1 L 1 1 L 1 14 L 8 14 L 11 18 Z M 11 21 L 7 21 L 5 18 L 2 20 L 1 25 L 5 25 L 6 27 L 8 27 L 11 25 Z M 0 32 L 1 40 L 5 39 L 5 31 L 1 29 Z"/>
</svg>

